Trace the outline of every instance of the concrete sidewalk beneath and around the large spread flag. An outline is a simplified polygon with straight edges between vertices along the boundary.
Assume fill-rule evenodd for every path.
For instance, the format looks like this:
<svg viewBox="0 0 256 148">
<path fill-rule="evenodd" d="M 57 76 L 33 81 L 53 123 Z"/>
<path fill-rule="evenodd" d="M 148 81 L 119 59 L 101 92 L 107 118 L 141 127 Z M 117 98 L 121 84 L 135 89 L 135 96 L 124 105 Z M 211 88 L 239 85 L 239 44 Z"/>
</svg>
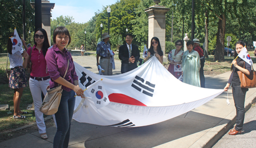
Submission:
<svg viewBox="0 0 256 148">
<path fill-rule="evenodd" d="M 93 72 L 97 72 L 95 56 L 76 56 L 74 61 Z M 120 61 L 115 61 L 114 74 L 120 74 Z M 255 67 L 255 66 L 254 66 Z M 206 76 L 207 88 L 223 88 L 230 72 Z M 255 102 L 256 88 L 246 94 L 248 110 Z M 233 127 L 236 121 L 231 87 L 227 93 L 174 119 L 155 125 L 138 128 L 115 128 L 72 121 L 69 147 L 211 147 L 222 135 Z M 38 131 L 0 143 L 0 147 L 53 147 L 55 127 L 47 128 L 48 139 L 42 140 Z"/>
</svg>

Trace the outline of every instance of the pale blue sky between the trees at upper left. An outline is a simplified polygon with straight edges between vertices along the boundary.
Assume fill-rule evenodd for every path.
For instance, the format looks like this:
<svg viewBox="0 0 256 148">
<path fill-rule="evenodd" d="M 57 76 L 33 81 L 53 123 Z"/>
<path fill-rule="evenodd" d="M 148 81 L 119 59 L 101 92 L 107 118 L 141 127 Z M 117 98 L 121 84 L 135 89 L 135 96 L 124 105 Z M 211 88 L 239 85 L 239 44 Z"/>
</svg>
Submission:
<svg viewBox="0 0 256 148">
<path fill-rule="evenodd" d="M 73 16 L 75 22 L 88 22 L 95 12 L 102 11 L 103 6 L 115 4 L 117 0 L 48 0 L 55 3 L 52 19 L 61 15 Z"/>
</svg>

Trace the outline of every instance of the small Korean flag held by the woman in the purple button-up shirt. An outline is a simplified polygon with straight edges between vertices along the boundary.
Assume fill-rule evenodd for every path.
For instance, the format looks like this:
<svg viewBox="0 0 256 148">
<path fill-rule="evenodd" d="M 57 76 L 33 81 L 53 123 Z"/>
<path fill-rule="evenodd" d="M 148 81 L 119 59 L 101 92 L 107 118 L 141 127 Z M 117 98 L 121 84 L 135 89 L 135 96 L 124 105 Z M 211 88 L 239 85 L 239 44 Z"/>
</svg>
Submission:
<svg viewBox="0 0 256 148">
<path fill-rule="evenodd" d="M 102 83 L 102 79 L 99 82 L 95 82 L 93 86 L 89 87 L 88 91 L 97 109 L 110 103 Z"/>
</svg>

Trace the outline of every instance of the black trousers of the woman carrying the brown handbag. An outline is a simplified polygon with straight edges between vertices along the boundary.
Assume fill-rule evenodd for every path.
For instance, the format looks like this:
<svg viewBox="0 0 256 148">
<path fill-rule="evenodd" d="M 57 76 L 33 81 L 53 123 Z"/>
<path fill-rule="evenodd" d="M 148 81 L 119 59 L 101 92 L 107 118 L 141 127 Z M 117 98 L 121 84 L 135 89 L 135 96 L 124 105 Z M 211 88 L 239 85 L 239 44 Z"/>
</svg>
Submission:
<svg viewBox="0 0 256 148">
<path fill-rule="evenodd" d="M 232 85 L 232 93 L 234 99 L 234 106 L 236 106 L 237 110 L 237 121 L 236 121 L 236 130 L 241 131 L 244 125 L 244 102 L 245 95 L 248 91 L 248 88 L 241 88 L 240 85 Z"/>
</svg>

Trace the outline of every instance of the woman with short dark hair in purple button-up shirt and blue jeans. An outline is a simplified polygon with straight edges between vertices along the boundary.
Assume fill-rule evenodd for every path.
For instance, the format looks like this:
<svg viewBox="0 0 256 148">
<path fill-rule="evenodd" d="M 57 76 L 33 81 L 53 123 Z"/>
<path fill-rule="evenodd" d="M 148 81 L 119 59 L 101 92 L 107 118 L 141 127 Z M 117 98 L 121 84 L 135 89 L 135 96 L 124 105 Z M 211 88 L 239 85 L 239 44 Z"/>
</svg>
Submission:
<svg viewBox="0 0 256 148">
<path fill-rule="evenodd" d="M 78 84 L 78 76 L 71 53 L 65 48 L 71 42 L 68 29 L 63 26 L 55 28 L 53 42 L 53 47 L 49 48 L 46 54 L 46 63 L 51 77 L 50 88 L 61 84 L 63 89 L 58 111 L 55 113 L 57 132 L 53 140 L 53 147 L 68 147 L 75 95 L 82 97 L 83 90 Z M 70 61 L 69 68 L 63 78 L 68 60 Z"/>
</svg>

